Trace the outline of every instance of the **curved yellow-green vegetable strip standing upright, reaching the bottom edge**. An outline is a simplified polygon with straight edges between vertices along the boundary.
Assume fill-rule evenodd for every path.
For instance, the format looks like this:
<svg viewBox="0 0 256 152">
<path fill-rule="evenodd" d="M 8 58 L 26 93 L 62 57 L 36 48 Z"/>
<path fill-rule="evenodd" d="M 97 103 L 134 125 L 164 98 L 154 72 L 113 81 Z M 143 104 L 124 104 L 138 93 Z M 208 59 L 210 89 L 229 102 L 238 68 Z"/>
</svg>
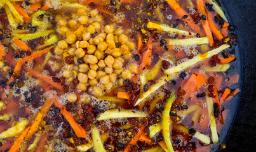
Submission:
<svg viewBox="0 0 256 152">
<path fill-rule="evenodd" d="M 165 105 L 165 110 L 163 111 L 163 137 L 165 139 L 166 146 L 170 152 L 174 152 L 172 147 L 172 136 L 170 133 L 172 132 L 170 128 L 172 128 L 172 122 L 170 120 L 170 111 L 172 107 L 173 100 L 175 98 L 175 93 L 172 92 L 172 96 L 167 99 L 167 103 Z M 170 127 L 171 125 L 171 127 Z"/>
</svg>

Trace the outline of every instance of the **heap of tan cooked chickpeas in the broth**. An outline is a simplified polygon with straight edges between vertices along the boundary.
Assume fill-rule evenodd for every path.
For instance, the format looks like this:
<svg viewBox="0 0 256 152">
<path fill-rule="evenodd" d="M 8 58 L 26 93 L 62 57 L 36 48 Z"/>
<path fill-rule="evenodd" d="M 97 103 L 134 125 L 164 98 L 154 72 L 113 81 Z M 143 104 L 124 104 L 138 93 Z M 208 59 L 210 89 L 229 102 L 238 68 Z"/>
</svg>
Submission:
<svg viewBox="0 0 256 152">
<path fill-rule="evenodd" d="M 102 96 L 114 84 L 138 72 L 137 65 L 123 68 L 135 44 L 121 28 L 104 25 L 97 9 L 78 9 L 71 17 L 58 16 L 57 20 L 57 31 L 64 39 L 58 41 L 55 54 L 65 61 L 62 77 L 67 84 L 76 79 L 77 89 Z"/>
</svg>

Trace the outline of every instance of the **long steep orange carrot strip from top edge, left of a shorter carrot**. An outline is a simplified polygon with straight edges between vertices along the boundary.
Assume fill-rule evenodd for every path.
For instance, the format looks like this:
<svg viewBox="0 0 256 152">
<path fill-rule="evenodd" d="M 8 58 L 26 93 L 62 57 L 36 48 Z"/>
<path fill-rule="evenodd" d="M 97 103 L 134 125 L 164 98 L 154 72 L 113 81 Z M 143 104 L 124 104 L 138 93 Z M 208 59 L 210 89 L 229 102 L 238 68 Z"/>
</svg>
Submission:
<svg viewBox="0 0 256 152">
<path fill-rule="evenodd" d="M 198 12 L 201 13 L 201 15 L 205 15 L 206 18 L 206 11 L 205 11 L 205 7 L 203 6 L 203 0 L 197 0 L 198 3 Z M 203 28 L 205 29 L 205 34 L 209 39 L 209 44 L 210 46 L 213 46 L 213 36 L 212 36 L 212 32 L 208 23 L 208 18 L 206 18 L 206 20 L 203 20 Z"/>
</svg>

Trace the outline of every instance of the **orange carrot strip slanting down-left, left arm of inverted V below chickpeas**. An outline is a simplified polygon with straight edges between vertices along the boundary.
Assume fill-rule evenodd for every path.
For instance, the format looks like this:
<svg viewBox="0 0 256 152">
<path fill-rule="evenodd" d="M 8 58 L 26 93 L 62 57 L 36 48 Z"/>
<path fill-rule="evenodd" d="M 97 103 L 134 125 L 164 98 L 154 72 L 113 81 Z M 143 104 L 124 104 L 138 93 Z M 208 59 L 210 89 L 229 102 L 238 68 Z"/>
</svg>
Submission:
<svg viewBox="0 0 256 152">
<path fill-rule="evenodd" d="M 47 111 L 50 109 L 52 104 L 53 104 L 53 101 L 51 99 L 47 99 L 45 101 L 39 113 L 37 113 L 37 116 L 34 122 L 30 126 L 30 129 L 27 132 L 27 136 L 25 137 L 25 140 L 29 139 L 38 130 L 38 127 L 41 124 L 41 121 L 43 120 L 44 116 L 46 115 Z"/>
</svg>

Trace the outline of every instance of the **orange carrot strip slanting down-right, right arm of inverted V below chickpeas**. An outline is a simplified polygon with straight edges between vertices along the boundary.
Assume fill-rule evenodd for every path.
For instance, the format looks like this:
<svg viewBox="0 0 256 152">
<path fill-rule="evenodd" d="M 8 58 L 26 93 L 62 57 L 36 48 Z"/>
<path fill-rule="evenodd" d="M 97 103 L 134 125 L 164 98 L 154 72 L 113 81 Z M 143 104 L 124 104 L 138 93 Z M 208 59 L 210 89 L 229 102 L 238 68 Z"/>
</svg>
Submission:
<svg viewBox="0 0 256 152">
<path fill-rule="evenodd" d="M 57 98 L 57 97 L 55 97 L 55 98 Z M 53 103 L 54 103 L 55 106 L 60 108 L 60 112 L 67 119 L 67 122 L 69 122 L 69 124 L 71 125 L 71 127 L 74 130 L 76 136 L 85 138 L 86 137 L 86 131 L 83 129 L 83 127 L 81 125 L 78 125 L 76 123 L 76 120 L 74 119 L 74 117 L 72 117 L 71 113 L 69 113 L 69 111 L 66 110 L 65 106 L 62 106 L 58 103 L 58 98 L 53 99 Z"/>
</svg>

